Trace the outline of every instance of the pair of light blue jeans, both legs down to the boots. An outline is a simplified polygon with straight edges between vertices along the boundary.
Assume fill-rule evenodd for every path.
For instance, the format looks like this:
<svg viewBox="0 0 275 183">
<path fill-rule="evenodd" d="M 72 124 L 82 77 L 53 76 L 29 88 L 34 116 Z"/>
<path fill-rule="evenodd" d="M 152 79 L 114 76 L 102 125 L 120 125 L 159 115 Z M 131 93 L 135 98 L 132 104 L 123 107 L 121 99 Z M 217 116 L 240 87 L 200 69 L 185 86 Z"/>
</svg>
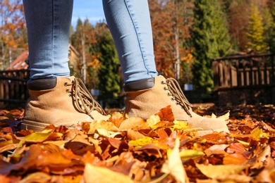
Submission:
<svg viewBox="0 0 275 183">
<path fill-rule="evenodd" d="M 147 0 L 102 0 L 124 82 L 157 76 Z M 23 0 L 30 79 L 68 77 L 73 0 Z"/>
</svg>

